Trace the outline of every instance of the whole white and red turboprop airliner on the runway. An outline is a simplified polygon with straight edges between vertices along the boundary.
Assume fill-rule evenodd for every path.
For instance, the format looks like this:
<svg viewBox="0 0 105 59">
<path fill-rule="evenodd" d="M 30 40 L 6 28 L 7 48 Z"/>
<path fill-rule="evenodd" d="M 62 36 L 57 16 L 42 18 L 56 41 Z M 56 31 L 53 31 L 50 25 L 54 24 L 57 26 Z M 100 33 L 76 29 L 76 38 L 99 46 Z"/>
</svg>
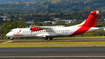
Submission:
<svg viewBox="0 0 105 59">
<path fill-rule="evenodd" d="M 15 28 L 6 34 L 13 40 L 16 37 L 41 37 L 52 40 L 54 37 L 74 36 L 98 30 L 96 26 L 99 11 L 92 11 L 89 17 L 81 24 L 74 26 L 34 26 L 31 28 Z"/>
</svg>

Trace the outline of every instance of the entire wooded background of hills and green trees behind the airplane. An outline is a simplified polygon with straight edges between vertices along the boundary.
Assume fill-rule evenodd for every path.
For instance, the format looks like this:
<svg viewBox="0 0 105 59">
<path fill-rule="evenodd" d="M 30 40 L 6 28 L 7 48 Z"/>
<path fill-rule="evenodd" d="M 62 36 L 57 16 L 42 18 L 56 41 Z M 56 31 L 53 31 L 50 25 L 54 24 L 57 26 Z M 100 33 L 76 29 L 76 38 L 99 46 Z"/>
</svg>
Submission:
<svg viewBox="0 0 105 59">
<path fill-rule="evenodd" d="M 31 0 L 32 1 L 32 0 Z M 56 13 L 56 18 L 77 19 L 77 23 L 64 24 L 59 22 L 56 25 L 72 26 L 81 23 L 93 10 L 104 10 L 105 0 L 44 0 L 40 2 L 20 2 L 0 4 L 0 16 L 6 15 L 12 18 L 10 21 L 3 21 L 0 18 L 0 37 L 6 37 L 6 33 L 13 28 L 25 28 L 25 21 L 33 20 L 34 25 L 49 25 L 38 22 L 51 21 L 49 14 Z M 22 18 L 18 20 L 19 14 Z M 33 15 L 30 15 L 30 14 Z M 39 15 L 40 14 L 40 15 Z M 16 16 L 16 17 L 15 17 Z M 105 11 L 101 12 L 96 27 L 105 27 Z M 15 20 L 14 20 L 15 19 Z M 100 20 L 102 19 L 102 20 Z M 97 30 L 81 34 L 79 36 L 105 36 L 105 31 Z"/>
</svg>

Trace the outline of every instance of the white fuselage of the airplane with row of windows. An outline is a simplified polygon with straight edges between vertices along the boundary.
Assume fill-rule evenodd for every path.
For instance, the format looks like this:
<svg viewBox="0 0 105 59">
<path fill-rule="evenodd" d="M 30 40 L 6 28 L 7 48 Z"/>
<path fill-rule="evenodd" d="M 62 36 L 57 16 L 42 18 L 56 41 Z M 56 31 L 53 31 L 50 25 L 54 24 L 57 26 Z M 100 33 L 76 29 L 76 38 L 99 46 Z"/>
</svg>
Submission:
<svg viewBox="0 0 105 59">
<path fill-rule="evenodd" d="M 58 36 L 71 36 L 73 33 L 78 31 L 81 27 L 71 26 L 71 27 L 51 27 L 51 29 L 43 29 L 40 31 L 31 31 L 30 28 L 16 28 L 12 29 L 9 33 L 6 34 L 8 37 L 58 37 Z M 90 29 L 82 29 L 82 32 L 98 30 L 99 28 L 91 27 Z M 79 31 L 79 32 L 80 32 Z M 83 32 L 84 33 L 84 32 Z"/>
</svg>

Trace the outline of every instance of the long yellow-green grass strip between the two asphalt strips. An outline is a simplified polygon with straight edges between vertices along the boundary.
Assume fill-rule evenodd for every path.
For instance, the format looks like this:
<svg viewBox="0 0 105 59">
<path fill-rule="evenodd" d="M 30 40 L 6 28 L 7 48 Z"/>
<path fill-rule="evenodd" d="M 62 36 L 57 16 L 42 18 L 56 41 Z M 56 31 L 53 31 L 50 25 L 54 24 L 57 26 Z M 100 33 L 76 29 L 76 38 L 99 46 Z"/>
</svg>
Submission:
<svg viewBox="0 0 105 59">
<path fill-rule="evenodd" d="M 0 43 L 0 47 L 105 47 L 105 42 Z"/>
</svg>

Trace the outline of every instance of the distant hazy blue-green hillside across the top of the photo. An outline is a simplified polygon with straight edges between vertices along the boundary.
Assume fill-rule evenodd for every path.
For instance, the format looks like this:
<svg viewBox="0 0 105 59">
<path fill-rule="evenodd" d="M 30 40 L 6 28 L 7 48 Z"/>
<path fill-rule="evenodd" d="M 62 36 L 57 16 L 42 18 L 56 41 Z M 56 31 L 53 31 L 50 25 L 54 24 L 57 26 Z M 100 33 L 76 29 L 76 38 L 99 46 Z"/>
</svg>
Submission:
<svg viewBox="0 0 105 59">
<path fill-rule="evenodd" d="M 105 9 L 105 0 L 44 0 L 40 2 L 21 2 L 0 4 L 0 12 L 8 11 L 48 11 L 48 10 L 89 10 Z"/>
</svg>

